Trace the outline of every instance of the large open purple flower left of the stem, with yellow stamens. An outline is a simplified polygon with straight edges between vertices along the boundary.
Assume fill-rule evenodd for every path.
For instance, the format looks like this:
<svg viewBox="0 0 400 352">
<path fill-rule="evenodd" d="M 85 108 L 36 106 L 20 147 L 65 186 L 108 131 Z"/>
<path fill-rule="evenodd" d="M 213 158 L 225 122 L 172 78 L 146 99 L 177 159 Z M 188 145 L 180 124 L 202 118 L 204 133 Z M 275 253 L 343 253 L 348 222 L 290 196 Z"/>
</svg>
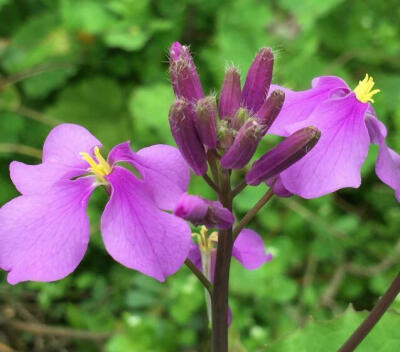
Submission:
<svg viewBox="0 0 400 352">
<path fill-rule="evenodd" d="M 189 183 L 178 150 L 154 145 L 134 153 L 125 142 L 105 160 L 99 147 L 85 128 L 63 124 L 46 138 L 41 164 L 11 163 L 22 195 L 0 209 L 0 267 L 9 283 L 54 281 L 75 270 L 89 241 L 87 202 L 100 185 L 110 194 L 101 233 L 116 261 L 159 281 L 183 264 L 190 228 L 163 211 L 173 209 Z"/>
</svg>

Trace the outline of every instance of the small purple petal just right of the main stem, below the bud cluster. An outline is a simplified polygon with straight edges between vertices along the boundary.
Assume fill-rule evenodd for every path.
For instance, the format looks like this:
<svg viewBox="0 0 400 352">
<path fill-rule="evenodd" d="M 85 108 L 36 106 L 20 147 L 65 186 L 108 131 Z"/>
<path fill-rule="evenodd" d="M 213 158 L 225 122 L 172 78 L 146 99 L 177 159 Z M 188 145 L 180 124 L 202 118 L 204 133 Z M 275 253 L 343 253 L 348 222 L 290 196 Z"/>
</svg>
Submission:
<svg viewBox="0 0 400 352">
<path fill-rule="evenodd" d="M 257 269 L 272 259 L 271 255 L 265 253 L 264 242 L 260 235 L 250 229 L 240 232 L 233 245 L 232 255 L 247 270 Z"/>
</svg>

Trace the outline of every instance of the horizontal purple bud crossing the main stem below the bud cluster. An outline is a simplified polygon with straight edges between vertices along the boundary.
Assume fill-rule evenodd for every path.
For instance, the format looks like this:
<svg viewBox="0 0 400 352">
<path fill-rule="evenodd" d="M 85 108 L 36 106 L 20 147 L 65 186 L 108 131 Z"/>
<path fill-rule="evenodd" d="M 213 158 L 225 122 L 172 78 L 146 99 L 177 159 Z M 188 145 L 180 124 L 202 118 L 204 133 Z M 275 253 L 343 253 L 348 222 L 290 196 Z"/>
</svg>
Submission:
<svg viewBox="0 0 400 352">
<path fill-rule="evenodd" d="M 228 229 L 234 222 L 232 213 L 220 202 L 184 193 L 175 207 L 174 214 L 194 225 Z"/>
</svg>

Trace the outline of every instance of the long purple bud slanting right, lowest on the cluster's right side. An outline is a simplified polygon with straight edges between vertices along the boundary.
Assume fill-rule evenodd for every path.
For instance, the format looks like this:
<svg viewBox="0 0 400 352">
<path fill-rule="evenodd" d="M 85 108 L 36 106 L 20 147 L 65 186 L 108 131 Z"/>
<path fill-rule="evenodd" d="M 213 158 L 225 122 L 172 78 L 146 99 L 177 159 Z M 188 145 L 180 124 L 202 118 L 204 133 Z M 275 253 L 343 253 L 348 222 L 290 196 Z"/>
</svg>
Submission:
<svg viewBox="0 0 400 352">
<path fill-rule="evenodd" d="M 321 132 L 315 127 L 305 127 L 293 133 L 253 163 L 246 182 L 256 186 L 276 176 L 305 156 L 320 136 Z"/>
</svg>

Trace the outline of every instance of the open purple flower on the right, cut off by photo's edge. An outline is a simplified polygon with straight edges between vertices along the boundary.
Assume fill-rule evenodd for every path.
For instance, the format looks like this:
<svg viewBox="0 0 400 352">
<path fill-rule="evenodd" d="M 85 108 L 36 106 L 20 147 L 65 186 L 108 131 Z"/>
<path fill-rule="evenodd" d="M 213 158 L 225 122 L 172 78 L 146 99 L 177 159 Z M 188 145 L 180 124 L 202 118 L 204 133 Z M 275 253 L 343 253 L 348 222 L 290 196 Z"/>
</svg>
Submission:
<svg viewBox="0 0 400 352">
<path fill-rule="evenodd" d="M 314 149 L 280 174 L 288 191 L 315 198 L 359 187 L 361 166 L 374 143 L 379 146 L 376 174 L 400 201 L 400 157 L 386 145 L 386 128 L 370 104 L 379 92 L 373 86 L 373 79 L 366 75 L 354 90 L 334 76 L 315 78 L 312 88 L 301 92 L 282 88 L 285 102 L 269 133 L 288 136 L 306 126 L 321 131 Z"/>
</svg>

